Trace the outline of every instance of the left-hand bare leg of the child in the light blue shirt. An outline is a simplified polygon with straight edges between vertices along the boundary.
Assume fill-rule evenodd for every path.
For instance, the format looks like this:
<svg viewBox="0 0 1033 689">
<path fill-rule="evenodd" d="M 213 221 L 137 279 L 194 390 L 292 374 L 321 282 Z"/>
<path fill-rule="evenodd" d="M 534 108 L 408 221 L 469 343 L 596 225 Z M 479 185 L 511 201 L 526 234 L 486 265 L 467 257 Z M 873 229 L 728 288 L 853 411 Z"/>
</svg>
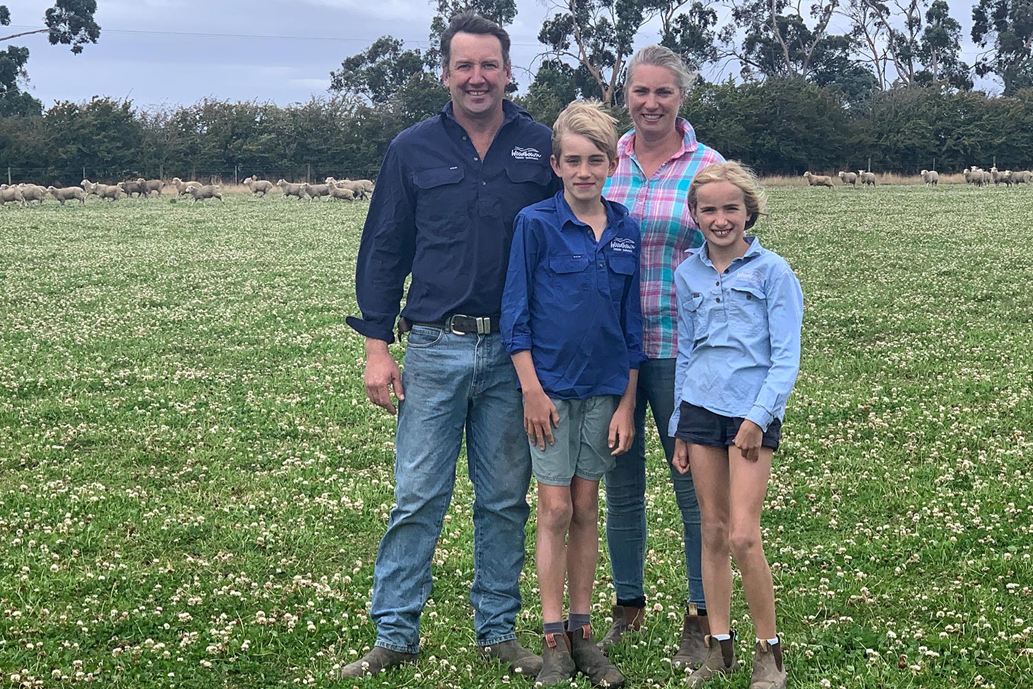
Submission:
<svg viewBox="0 0 1033 689">
<path fill-rule="evenodd" d="M 727 634 L 731 628 L 728 450 L 689 444 L 689 466 L 699 502 L 700 564 L 710 629 L 712 634 Z"/>
</svg>

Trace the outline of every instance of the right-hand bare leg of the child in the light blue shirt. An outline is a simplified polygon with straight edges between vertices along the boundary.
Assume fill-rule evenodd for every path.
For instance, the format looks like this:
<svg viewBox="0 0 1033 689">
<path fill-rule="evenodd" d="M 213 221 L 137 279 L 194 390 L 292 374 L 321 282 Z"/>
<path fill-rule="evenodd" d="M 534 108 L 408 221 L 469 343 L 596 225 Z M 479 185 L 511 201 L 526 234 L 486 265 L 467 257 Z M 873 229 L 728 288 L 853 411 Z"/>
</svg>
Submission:
<svg viewBox="0 0 1033 689">
<path fill-rule="evenodd" d="M 761 447 L 760 459 L 750 462 L 738 447 L 728 448 L 731 492 L 735 496 L 728 541 L 743 574 L 743 592 L 758 638 L 774 638 L 776 633 L 775 587 L 760 536 L 760 510 L 768 493 L 773 453 L 770 447 Z"/>
</svg>

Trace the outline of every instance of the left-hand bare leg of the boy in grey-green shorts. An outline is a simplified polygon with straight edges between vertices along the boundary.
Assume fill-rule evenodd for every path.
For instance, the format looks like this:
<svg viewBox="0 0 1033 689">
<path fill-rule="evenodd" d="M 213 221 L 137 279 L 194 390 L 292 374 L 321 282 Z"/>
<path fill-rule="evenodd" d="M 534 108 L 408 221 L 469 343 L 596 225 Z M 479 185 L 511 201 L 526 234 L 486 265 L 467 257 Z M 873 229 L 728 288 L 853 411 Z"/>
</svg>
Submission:
<svg viewBox="0 0 1033 689">
<path fill-rule="evenodd" d="M 535 569 L 541 592 L 541 619 L 563 619 L 563 585 L 567 578 L 566 537 L 570 530 L 571 489 L 538 483 L 538 534 L 535 538 Z"/>
</svg>

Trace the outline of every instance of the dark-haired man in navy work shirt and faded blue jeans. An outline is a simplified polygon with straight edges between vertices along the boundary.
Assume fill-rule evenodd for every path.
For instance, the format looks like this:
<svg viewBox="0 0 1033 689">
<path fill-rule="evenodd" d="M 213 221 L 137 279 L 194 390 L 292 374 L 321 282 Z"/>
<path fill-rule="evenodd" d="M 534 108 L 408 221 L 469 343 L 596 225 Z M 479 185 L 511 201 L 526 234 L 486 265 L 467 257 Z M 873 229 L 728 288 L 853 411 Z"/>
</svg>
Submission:
<svg viewBox="0 0 1033 689">
<path fill-rule="evenodd" d="M 376 646 L 342 670 L 376 675 L 416 658 L 431 561 L 466 432 L 474 488 L 470 601 L 478 651 L 536 676 L 541 659 L 516 640 L 531 460 L 516 374 L 499 312 L 512 221 L 558 188 L 551 131 L 503 99 L 509 36 L 472 13 L 441 36 L 451 100 L 390 144 L 358 251 L 356 295 L 366 336 L 366 392 L 396 412 L 395 501 L 380 541 L 371 615 Z M 399 332 L 405 372 L 387 351 L 406 276 Z"/>
</svg>

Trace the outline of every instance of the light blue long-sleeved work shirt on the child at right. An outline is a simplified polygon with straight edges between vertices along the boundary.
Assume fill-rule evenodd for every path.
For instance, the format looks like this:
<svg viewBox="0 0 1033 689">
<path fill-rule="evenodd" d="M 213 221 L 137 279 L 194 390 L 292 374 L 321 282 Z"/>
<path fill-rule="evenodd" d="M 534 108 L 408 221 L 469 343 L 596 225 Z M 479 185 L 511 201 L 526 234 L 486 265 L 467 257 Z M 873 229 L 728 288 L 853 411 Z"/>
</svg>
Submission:
<svg viewBox="0 0 1033 689">
<path fill-rule="evenodd" d="M 764 431 L 785 415 L 800 371 L 804 293 L 792 269 L 747 237 L 750 248 L 718 274 L 707 245 L 675 271 L 678 361 L 674 437 L 682 401 Z"/>
</svg>

